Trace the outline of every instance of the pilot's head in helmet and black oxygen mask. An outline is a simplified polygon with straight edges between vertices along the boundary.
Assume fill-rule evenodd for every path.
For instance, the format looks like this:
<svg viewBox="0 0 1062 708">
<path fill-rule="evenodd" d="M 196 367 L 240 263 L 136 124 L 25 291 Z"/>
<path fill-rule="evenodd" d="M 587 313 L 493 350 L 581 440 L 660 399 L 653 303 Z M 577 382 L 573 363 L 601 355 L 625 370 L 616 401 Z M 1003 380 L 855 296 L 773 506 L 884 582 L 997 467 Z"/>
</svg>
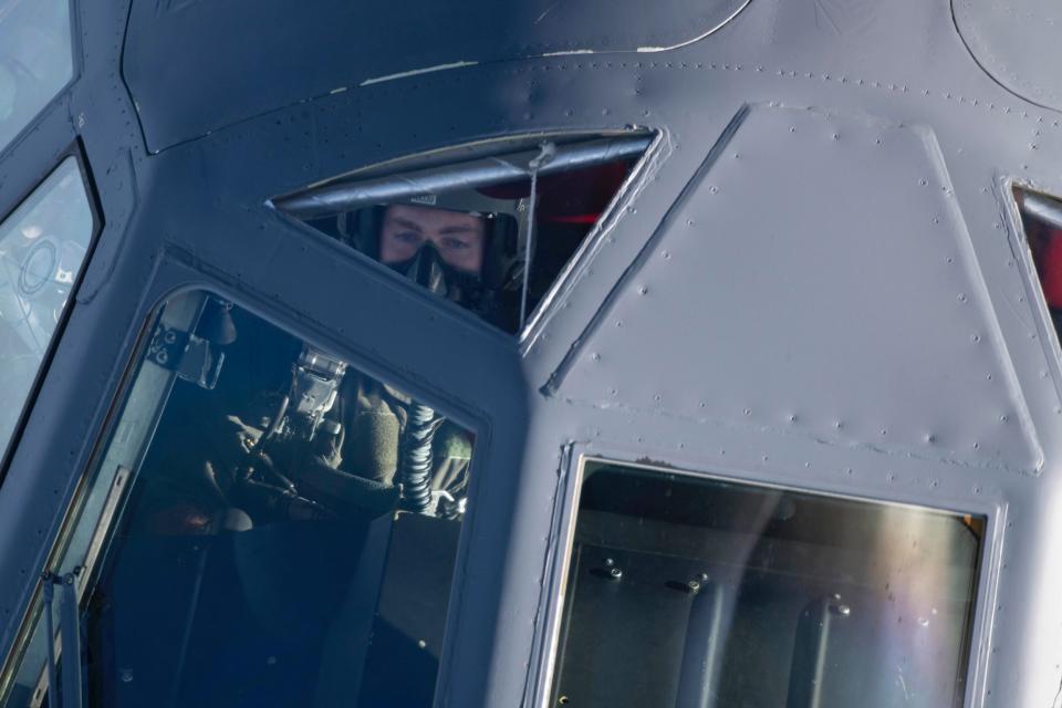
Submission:
<svg viewBox="0 0 1062 708">
<path fill-rule="evenodd" d="M 427 194 L 355 211 L 345 237 L 433 293 L 504 326 L 507 301 L 522 284 L 525 215 L 525 198 Z"/>
</svg>

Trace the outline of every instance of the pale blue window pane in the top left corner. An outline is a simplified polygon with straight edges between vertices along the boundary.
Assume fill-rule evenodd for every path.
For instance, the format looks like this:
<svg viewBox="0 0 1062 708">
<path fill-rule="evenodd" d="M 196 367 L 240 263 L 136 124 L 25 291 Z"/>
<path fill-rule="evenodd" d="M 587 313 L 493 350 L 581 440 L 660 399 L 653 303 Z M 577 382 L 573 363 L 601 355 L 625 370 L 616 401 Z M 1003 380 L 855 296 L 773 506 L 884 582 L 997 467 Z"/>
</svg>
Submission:
<svg viewBox="0 0 1062 708">
<path fill-rule="evenodd" d="M 0 0 L 0 152 L 73 75 L 69 0 Z"/>
</svg>

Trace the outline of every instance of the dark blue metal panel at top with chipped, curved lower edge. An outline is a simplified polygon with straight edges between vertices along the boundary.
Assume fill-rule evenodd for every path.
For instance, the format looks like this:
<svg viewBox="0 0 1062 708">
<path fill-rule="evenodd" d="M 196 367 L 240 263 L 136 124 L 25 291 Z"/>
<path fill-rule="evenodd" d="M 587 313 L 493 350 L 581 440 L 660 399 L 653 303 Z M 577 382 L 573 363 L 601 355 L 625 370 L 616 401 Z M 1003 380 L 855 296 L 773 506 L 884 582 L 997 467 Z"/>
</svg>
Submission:
<svg viewBox="0 0 1062 708">
<path fill-rule="evenodd" d="M 386 0 L 320 0 L 299 12 L 282 0 L 144 1 L 134 3 L 124 73 L 160 150 L 360 85 L 529 56 L 665 51 L 715 32 L 748 1 L 663 0 L 652 12 L 637 0 L 426 0 L 400 11 Z"/>
</svg>

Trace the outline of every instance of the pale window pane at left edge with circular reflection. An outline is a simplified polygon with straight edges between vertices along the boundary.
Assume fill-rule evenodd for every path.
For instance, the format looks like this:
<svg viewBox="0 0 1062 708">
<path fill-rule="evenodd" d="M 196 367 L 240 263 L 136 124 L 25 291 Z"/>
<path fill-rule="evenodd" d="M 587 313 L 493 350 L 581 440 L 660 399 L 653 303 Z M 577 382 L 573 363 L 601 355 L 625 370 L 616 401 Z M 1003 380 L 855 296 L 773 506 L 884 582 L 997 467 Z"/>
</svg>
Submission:
<svg viewBox="0 0 1062 708">
<path fill-rule="evenodd" d="M 92 231 L 92 209 L 73 157 L 0 223 L 0 448 L 33 387 Z"/>
</svg>

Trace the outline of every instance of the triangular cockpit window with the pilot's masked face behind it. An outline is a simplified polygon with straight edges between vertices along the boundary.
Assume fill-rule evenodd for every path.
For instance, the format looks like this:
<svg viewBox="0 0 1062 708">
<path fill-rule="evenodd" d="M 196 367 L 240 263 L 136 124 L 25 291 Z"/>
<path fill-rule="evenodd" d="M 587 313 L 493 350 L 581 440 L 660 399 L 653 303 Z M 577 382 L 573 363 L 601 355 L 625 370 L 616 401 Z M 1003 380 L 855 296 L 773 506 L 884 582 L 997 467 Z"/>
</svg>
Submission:
<svg viewBox="0 0 1062 708">
<path fill-rule="evenodd" d="M 438 296 L 519 332 L 650 137 L 632 132 L 538 140 L 475 157 L 471 148 L 455 148 L 367 168 L 273 204 Z"/>
</svg>

